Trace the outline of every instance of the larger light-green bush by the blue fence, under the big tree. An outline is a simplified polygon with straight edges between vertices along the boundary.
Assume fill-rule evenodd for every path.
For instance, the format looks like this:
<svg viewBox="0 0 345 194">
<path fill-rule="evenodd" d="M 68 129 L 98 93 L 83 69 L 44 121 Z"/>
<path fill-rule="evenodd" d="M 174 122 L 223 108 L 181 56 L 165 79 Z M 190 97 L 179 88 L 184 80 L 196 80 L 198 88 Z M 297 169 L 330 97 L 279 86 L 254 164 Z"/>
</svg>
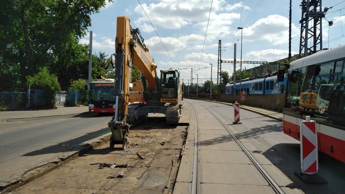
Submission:
<svg viewBox="0 0 345 194">
<path fill-rule="evenodd" d="M 27 85 L 31 89 L 45 90 L 47 94 L 47 106 L 55 106 L 55 92 L 61 92 L 58 77 L 50 74 L 47 67 L 41 68 L 34 76 L 27 76 Z"/>
</svg>

